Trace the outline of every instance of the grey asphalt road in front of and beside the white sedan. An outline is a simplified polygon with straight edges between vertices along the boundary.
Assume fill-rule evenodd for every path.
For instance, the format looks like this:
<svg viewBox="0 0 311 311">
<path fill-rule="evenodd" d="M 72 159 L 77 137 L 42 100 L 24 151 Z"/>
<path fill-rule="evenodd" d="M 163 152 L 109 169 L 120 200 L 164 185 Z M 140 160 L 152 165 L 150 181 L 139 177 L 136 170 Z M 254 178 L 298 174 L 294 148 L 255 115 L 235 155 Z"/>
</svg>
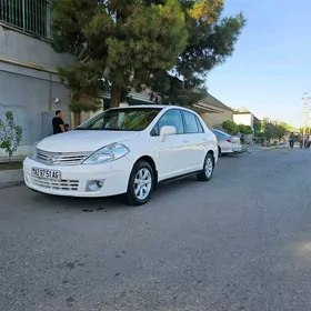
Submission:
<svg viewBox="0 0 311 311">
<path fill-rule="evenodd" d="M 309 311 L 310 167 L 222 158 L 141 208 L 0 191 L 0 310 Z"/>
</svg>

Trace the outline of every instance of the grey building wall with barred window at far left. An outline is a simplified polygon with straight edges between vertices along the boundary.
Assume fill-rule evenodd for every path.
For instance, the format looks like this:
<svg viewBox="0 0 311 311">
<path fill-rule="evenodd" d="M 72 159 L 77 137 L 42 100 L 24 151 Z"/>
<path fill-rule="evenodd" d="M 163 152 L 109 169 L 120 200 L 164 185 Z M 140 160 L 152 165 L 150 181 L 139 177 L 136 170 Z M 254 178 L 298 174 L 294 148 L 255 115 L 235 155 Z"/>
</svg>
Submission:
<svg viewBox="0 0 311 311">
<path fill-rule="evenodd" d="M 28 154 L 36 141 L 51 133 L 56 110 L 70 123 L 69 92 L 56 68 L 71 62 L 72 57 L 50 46 L 49 1 L 0 1 L 0 118 L 12 111 L 23 129 L 17 156 Z"/>
</svg>

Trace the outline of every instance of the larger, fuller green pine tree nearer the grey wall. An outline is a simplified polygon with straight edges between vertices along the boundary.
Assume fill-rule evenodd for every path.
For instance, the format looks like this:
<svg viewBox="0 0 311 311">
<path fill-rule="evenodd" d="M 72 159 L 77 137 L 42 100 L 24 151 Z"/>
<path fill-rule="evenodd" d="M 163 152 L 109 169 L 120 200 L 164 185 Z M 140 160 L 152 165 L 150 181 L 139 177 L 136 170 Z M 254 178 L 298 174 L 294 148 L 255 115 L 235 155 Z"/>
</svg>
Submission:
<svg viewBox="0 0 311 311">
<path fill-rule="evenodd" d="M 100 92 L 119 106 L 129 89 L 151 87 L 184 50 L 185 17 L 179 0 L 54 0 L 53 48 L 76 56 L 59 76 L 71 92 L 73 112 L 97 110 Z"/>
</svg>

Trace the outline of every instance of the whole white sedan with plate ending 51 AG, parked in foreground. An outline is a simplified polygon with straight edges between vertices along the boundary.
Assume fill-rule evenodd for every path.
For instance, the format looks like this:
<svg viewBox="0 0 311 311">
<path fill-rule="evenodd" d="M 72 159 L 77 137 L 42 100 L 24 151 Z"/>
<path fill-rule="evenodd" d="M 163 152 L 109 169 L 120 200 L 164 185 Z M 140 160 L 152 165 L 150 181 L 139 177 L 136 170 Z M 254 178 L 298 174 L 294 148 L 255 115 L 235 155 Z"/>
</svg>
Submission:
<svg viewBox="0 0 311 311">
<path fill-rule="evenodd" d="M 40 141 L 23 162 L 24 182 L 38 192 L 98 198 L 126 193 L 146 203 L 159 182 L 211 179 L 215 136 L 193 111 L 175 106 L 113 108 L 73 131 Z"/>
</svg>

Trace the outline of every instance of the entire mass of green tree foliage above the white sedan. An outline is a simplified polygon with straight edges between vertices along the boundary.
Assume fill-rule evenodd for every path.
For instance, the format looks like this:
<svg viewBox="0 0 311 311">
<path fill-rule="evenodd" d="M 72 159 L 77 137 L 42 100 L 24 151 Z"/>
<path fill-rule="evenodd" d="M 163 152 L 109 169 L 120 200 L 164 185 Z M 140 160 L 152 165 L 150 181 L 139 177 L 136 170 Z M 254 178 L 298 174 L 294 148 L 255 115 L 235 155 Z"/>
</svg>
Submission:
<svg viewBox="0 0 311 311">
<path fill-rule="evenodd" d="M 77 57 L 59 69 L 71 110 L 97 110 L 102 90 L 111 91 L 112 106 L 144 88 L 161 102 L 197 102 L 245 23 L 242 13 L 222 12 L 223 0 L 53 0 L 53 48 Z"/>
</svg>

